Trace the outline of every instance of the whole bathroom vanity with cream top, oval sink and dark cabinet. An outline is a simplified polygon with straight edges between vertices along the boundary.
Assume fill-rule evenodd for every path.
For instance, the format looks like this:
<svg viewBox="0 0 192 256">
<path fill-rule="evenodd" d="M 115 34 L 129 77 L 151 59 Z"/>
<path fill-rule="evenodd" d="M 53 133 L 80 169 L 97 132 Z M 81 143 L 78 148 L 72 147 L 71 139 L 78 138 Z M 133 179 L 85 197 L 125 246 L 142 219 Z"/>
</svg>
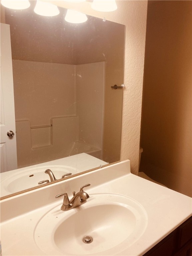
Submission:
<svg viewBox="0 0 192 256">
<path fill-rule="evenodd" d="M 87 201 L 61 210 L 55 196 L 86 184 Z M 192 198 L 131 174 L 129 160 L 0 204 L 3 255 L 191 256 Z"/>
</svg>

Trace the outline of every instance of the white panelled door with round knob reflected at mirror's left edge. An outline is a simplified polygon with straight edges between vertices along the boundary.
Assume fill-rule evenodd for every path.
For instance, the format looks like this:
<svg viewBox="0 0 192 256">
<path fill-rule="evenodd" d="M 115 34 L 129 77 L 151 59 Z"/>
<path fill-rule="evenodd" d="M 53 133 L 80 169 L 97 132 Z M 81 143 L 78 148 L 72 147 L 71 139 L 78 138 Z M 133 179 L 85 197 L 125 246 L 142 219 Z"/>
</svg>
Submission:
<svg viewBox="0 0 192 256">
<path fill-rule="evenodd" d="M 1 23 L 1 114 L 0 114 L 0 172 L 17 169 L 17 148 L 15 131 L 15 107 L 13 92 L 13 70 L 11 57 L 10 27 Z M 8 136 L 12 131 L 14 136 Z M 10 133 L 10 135 L 13 135 Z"/>
</svg>

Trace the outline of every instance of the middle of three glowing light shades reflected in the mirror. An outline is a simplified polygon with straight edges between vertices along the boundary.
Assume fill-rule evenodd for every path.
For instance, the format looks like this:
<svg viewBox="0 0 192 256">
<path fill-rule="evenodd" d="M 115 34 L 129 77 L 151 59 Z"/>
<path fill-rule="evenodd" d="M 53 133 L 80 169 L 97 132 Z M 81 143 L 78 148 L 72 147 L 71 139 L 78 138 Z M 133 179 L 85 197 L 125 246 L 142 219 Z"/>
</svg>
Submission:
<svg viewBox="0 0 192 256">
<path fill-rule="evenodd" d="M 37 0 L 34 12 L 42 16 L 56 16 L 59 14 L 59 9 L 56 5 Z"/>
</svg>

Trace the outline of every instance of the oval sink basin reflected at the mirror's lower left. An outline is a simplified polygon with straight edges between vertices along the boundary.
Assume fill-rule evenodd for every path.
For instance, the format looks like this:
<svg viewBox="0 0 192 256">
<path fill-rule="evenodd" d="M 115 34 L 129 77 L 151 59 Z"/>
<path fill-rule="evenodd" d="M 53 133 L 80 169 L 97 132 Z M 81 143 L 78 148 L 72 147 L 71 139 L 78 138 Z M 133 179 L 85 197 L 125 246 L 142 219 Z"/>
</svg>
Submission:
<svg viewBox="0 0 192 256">
<path fill-rule="evenodd" d="M 45 173 L 46 169 L 51 169 L 56 179 L 61 179 L 66 173 L 76 174 L 78 169 L 65 165 L 47 165 L 33 168 L 22 169 L 14 174 L 8 175 L 1 180 L 1 190 L 15 193 L 31 187 L 38 186 L 42 180 L 50 180 L 49 175 Z M 1 193 L 3 196 L 3 191 Z"/>
</svg>

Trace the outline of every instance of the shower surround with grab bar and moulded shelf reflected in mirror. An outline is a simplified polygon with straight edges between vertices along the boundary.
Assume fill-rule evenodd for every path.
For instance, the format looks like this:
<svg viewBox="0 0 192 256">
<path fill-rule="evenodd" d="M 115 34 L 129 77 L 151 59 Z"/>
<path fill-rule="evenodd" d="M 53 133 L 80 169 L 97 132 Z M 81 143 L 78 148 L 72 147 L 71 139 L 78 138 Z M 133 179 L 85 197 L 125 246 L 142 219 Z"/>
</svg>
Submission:
<svg viewBox="0 0 192 256">
<path fill-rule="evenodd" d="M 21 113 L 16 115 L 19 168 L 83 152 L 102 158 L 105 62 L 69 65 L 13 60 L 13 70 L 15 97 L 19 99 L 16 114 Z M 20 72 L 24 75 L 19 75 Z M 42 79 L 38 73 L 42 73 Z M 46 88 L 52 95 L 45 95 L 44 103 L 42 94 Z M 26 111 L 20 102 L 25 102 Z M 60 102 L 59 109 L 56 105 L 51 112 L 49 102 L 53 107 Z M 33 106 L 37 109 L 29 114 L 28 109 L 32 110 Z M 42 109 L 44 114 L 40 112 Z M 60 115 L 55 116 L 57 109 Z M 40 117 L 35 114 L 37 111 Z M 30 128 L 45 124 L 52 127 Z"/>
</svg>

